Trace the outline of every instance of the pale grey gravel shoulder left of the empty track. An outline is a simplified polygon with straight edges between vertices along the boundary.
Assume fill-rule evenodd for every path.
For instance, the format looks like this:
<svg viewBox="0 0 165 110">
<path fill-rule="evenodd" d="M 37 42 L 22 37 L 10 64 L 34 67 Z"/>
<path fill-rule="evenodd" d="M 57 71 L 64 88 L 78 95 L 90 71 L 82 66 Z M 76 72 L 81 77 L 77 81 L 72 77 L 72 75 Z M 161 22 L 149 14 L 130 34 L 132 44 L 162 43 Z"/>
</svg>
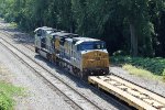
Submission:
<svg viewBox="0 0 165 110">
<path fill-rule="evenodd" d="M 1 80 L 25 88 L 26 96 L 15 98 L 15 110 L 73 110 L 64 99 L 2 45 L 0 52 L 0 65 L 6 70 L 0 74 Z"/>
</svg>

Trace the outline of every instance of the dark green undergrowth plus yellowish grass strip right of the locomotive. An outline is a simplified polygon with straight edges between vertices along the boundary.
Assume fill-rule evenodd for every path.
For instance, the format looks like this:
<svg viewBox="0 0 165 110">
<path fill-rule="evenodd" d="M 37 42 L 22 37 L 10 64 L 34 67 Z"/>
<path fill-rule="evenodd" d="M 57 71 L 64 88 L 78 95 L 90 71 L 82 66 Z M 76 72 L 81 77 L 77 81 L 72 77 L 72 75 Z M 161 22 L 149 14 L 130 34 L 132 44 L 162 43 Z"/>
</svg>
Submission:
<svg viewBox="0 0 165 110">
<path fill-rule="evenodd" d="M 112 56 L 111 62 L 114 65 L 121 65 L 130 74 L 165 81 L 165 58 Z"/>
</svg>

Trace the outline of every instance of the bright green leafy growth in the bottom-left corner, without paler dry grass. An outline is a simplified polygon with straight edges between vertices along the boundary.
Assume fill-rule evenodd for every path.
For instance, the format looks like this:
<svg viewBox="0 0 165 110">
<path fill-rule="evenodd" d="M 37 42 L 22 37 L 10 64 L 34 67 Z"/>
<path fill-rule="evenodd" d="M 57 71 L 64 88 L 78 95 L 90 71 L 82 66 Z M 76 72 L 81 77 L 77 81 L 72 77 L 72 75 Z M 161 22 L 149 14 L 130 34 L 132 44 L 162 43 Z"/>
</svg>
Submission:
<svg viewBox="0 0 165 110">
<path fill-rule="evenodd" d="M 22 88 L 0 81 L 0 110 L 12 110 L 14 106 L 13 96 L 22 94 Z"/>
</svg>

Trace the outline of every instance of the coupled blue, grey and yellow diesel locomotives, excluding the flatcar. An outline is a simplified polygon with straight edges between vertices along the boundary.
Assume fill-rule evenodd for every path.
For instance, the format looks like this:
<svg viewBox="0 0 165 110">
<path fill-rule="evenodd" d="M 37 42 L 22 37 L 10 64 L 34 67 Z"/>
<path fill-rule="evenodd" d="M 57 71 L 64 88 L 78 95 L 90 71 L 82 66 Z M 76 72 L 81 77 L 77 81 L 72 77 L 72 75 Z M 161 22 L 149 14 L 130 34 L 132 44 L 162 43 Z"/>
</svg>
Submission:
<svg viewBox="0 0 165 110">
<path fill-rule="evenodd" d="M 109 54 L 103 41 L 47 26 L 34 32 L 35 52 L 69 73 L 80 78 L 109 74 Z"/>
</svg>

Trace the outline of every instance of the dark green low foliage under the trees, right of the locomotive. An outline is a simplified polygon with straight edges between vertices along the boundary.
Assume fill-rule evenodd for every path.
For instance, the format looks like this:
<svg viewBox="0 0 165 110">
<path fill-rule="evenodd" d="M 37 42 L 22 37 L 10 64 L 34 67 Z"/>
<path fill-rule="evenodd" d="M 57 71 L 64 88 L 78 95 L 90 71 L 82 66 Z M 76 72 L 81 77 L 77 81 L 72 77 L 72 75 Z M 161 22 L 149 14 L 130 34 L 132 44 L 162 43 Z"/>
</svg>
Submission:
<svg viewBox="0 0 165 110">
<path fill-rule="evenodd" d="M 157 58 L 142 58 L 142 57 L 130 57 L 130 56 L 112 56 L 111 62 L 113 64 L 131 64 L 135 67 L 144 68 L 156 75 L 165 75 L 165 59 Z"/>
</svg>

